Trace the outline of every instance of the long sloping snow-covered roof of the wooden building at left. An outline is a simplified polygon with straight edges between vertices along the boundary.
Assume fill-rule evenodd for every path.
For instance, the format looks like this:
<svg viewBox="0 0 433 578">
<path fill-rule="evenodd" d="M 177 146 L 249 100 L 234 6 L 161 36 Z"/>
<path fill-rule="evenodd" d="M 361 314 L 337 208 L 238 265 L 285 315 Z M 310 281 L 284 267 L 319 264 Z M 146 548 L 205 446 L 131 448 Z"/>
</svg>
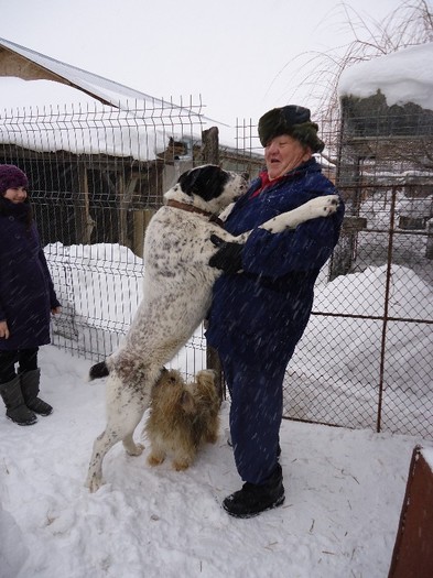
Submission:
<svg viewBox="0 0 433 578">
<path fill-rule="evenodd" d="M 197 141 L 204 124 L 225 127 L 199 105 L 154 98 L 4 39 L 0 91 L 0 142 L 36 151 L 151 161 L 170 138 Z"/>
</svg>

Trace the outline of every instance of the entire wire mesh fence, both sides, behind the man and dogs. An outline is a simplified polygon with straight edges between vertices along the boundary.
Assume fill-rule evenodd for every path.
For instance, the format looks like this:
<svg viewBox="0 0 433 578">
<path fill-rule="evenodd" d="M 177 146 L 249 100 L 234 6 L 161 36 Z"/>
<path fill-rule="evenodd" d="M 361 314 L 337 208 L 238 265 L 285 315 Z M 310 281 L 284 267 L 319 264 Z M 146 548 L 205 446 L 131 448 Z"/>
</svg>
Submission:
<svg viewBox="0 0 433 578">
<path fill-rule="evenodd" d="M 424 122 L 411 138 L 420 154 L 408 156 L 401 135 L 382 134 L 389 122 L 375 133 L 362 118 L 364 132 L 356 118 L 323 134 L 333 159 L 321 161 L 347 218 L 286 371 L 284 417 L 432 438 L 432 133 Z M 180 173 L 206 161 L 204 128 L 202 105 L 191 101 L 0 116 L 0 162 L 29 175 L 63 304 L 56 346 L 93 361 L 118 347 L 142 296 L 145 226 Z M 256 134 L 238 121 L 238 148 L 219 146 L 223 166 L 257 174 Z M 206 362 L 199 327 L 173 366 L 192 375 Z"/>
</svg>

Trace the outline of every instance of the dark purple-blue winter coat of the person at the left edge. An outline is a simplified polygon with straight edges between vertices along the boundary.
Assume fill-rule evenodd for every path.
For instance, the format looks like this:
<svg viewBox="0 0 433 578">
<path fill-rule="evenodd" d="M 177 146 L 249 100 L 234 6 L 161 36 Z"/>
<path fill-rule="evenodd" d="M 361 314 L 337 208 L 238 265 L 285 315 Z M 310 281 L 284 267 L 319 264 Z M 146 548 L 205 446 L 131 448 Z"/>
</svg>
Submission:
<svg viewBox="0 0 433 578">
<path fill-rule="evenodd" d="M 59 303 L 36 227 L 26 222 L 30 207 L 0 201 L 0 320 L 10 331 L 0 350 L 50 343 L 51 309 Z"/>
</svg>

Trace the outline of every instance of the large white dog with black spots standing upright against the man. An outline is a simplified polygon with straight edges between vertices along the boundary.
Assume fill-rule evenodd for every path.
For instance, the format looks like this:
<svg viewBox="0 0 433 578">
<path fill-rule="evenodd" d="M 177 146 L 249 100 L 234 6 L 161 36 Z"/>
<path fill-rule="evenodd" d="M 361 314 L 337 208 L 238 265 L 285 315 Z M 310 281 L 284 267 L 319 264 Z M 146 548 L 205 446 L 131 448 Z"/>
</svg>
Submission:
<svg viewBox="0 0 433 578">
<path fill-rule="evenodd" d="M 122 440 L 131 456 L 143 450 L 132 436 L 152 386 L 204 319 L 213 283 L 221 274 L 208 264 L 217 252 L 210 236 L 231 242 L 248 239 L 248 232 L 234 237 L 215 222 L 246 189 L 246 181 L 236 173 L 198 166 L 181 175 L 151 219 L 144 239 L 143 299 L 122 346 L 106 360 L 107 426 L 94 444 L 86 481 L 90 491 L 102 484 L 102 460 L 116 443 Z M 317 197 L 261 228 L 281 232 L 332 215 L 337 206 L 336 195 Z"/>
</svg>

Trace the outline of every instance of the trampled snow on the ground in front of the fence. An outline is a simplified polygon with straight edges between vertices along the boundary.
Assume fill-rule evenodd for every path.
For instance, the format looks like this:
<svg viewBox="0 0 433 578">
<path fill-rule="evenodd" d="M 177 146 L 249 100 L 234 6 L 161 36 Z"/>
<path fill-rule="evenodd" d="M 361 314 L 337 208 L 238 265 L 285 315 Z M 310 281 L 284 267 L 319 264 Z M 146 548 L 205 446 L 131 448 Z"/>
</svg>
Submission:
<svg viewBox="0 0 433 578">
<path fill-rule="evenodd" d="M 150 468 L 148 450 L 132 458 L 118 444 L 105 459 L 106 486 L 90 494 L 84 480 L 105 425 L 105 386 L 86 381 L 89 366 L 42 348 L 54 413 L 31 427 L 0 416 L 1 578 L 387 575 L 422 439 L 284 421 L 285 503 L 236 520 L 220 508 L 240 486 L 224 402 L 218 443 L 188 470 Z"/>
</svg>

